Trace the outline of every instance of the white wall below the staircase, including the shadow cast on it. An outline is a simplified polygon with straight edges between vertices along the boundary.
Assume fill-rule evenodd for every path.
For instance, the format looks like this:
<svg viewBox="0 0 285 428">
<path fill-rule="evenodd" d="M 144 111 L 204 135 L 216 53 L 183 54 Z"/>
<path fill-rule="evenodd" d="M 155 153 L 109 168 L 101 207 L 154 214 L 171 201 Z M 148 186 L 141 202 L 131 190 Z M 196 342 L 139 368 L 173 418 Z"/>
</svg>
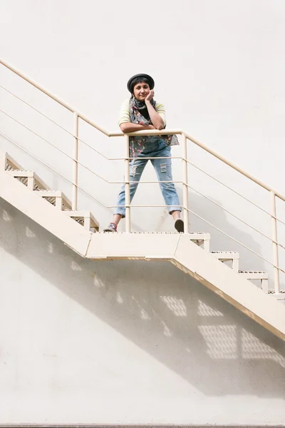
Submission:
<svg viewBox="0 0 285 428">
<path fill-rule="evenodd" d="M 0 423 L 284 424 L 284 342 L 190 276 L 85 260 L 3 200 L 0 230 Z"/>
</svg>

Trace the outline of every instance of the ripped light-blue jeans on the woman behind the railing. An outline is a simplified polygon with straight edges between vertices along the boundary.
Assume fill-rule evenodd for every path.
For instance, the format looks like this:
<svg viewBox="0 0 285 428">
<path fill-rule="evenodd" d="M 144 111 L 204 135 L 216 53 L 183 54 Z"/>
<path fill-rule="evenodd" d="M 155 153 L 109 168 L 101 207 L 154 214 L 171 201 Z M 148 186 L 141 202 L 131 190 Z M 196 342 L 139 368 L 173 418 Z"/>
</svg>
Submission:
<svg viewBox="0 0 285 428">
<path fill-rule="evenodd" d="M 135 195 L 140 177 L 142 176 L 142 171 L 145 169 L 145 165 L 147 164 L 148 159 L 145 158 L 170 156 L 170 146 L 167 146 L 165 141 L 160 139 L 156 143 L 147 143 L 142 153 L 140 153 L 137 158 L 133 158 L 133 161 L 130 162 L 130 200 L 132 200 Z M 170 158 L 150 159 L 150 162 L 155 168 L 155 172 L 159 181 L 172 181 L 172 167 Z M 168 212 L 171 213 L 172 211 L 181 211 L 175 185 L 173 183 L 160 183 L 160 190 L 165 200 L 165 205 L 170 205 L 167 207 Z M 123 185 L 120 190 L 117 205 L 125 205 L 125 185 Z M 120 214 L 125 217 L 125 207 L 115 208 L 114 214 Z"/>
</svg>

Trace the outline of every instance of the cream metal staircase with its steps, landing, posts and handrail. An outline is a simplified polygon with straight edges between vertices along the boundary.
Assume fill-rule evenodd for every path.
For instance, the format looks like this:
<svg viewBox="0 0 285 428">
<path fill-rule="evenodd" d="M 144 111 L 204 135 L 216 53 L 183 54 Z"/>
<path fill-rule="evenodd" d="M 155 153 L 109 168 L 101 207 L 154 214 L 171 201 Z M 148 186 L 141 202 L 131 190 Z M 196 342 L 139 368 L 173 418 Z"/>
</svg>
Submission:
<svg viewBox="0 0 285 428">
<path fill-rule="evenodd" d="M 71 106 L 68 106 L 56 96 L 52 96 L 48 91 L 38 86 L 31 79 L 22 75 L 15 68 L 4 64 L 11 71 L 16 72 L 29 83 L 46 93 L 54 100 L 61 103 L 69 110 L 73 111 L 74 126 L 74 152 L 73 157 L 73 180 L 72 201 L 61 191 L 51 189 L 41 180 L 33 170 L 25 170 L 8 153 L 2 153 L 0 158 L 0 197 L 21 210 L 29 218 L 36 221 L 43 228 L 53 235 L 56 235 L 68 247 L 76 251 L 85 258 L 92 260 L 167 260 L 175 265 L 187 275 L 195 277 L 201 284 L 209 287 L 217 295 L 220 295 L 249 317 L 259 322 L 265 328 L 275 335 L 285 340 L 285 305 L 279 300 L 284 300 L 285 292 L 280 290 L 279 272 L 285 272 L 278 263 L 278 248 L 283 247 L 277 241 L 276 222 L 281 221 L 276 217 L 275 198 L 279 197 L 285 200 L 274 190 L 271 190 L 259 180 L 252 178 L 244 171 L 239 170 L 229 161 L 218 156 L 201 143 L 195 141 L 179 130 L 167 130 L 165 133 L 180 133 L 182 136 L 182 169 L 183 169 L 183 208 L 185 233 L 131 233 L 130 230 L 130 200 L 129 200 L 129 158 L 128 158 L 128 138 L 125 135 L 125 183 L 126 183 L 126 232 L 127 233 L 101 233 L 98 220 L 88 210 L 78 210 L 77 196 L 81 187 L 78 185 L 78 118 L 94 126 L 99 131 L 108 136 L 123 136 L 122 133 L 108 133 L 86 116 L 77 113 Z M 3 86 L 1 86 L 3 88 Z M 3 112 L 3 111 L 2 111 Z M 4 113 L 4 112 L 3 112 Z M 160 131 L 162 133 L 164 131 Z M 141 131 L 139 133 L 142 133 Z M 150 132 L 148 133 L 155 133 Z M 135 133 L 136 135 L 138 133 Z M 8 136 L 0 135 L 6 140 L 11 141 Z M 232 251 L 210 251 L 209 233 L 190 233 L 188 230 L 188 215 L 192 213 L 188 204 L 188 189 L 190 185 L 187 182 L 187 139 L 198 144 L 204 150 L 218 157 L 227 165 L 239 170 L 243 175 L 254 180 L 263 188 L 271 193 L 272 204 L 271 216 L 273 235 L 271 243 L 274 249 L 274 260 L 271 265 L 274 268 L 274 289 L 270 290 L 268 285 L 269 276 L 266 272 L 259 270 L 239 270 L 239 253 Z M 11 141 L 11 143 L 14 143 Z M 15 143 L 17 146 L 17 144 Z M 19 147 L 19 146 L 18 146 Z M 25 148 L 19 147 L 22 151 L 33 156 Z M 36 158 L 35 156 L 33 156 Z M 38 159 L 37 159 L 38 160 Z M 43 161 L 39 160 L 43 165 Z M 48 166 L 48 165 L 46 165 Z M 84 166 L 84 165 L 83 165 Z M 48 167 L 49 168 L 49 167 Z M 50 168 L 52 169 L 52 168 Z M 57 171 L 54 171 L 57 173 Z M 96 174 L 98 175 L 98 174 Z M 111 182 L 108 182 L 111 183 Z M 84 189 L 81 189 L 86 191 Z M 86 192 L 87 193 L 87 192 Z M 100 201 L 98 201 L 100 202 Z M 103 205 L 103 204 L 102 204 Z M 160 205 L 155 205 L 160 206 Z M 106 207 L 106 205 L 105 205 Z M 107 207 L 108 208 L 108 207 Z M 195 213 L 194 213 L 195 214 Z M 281 223 L 285 224 L 281 221 Z M 264 235 L 265 236 L 265 235 Z M 237 241 L 238 242 L 238 241 Z M 265 259 L 264 259 L 265 260 Z M 266 260 L 267 261 L 267 260 Z M 251 281 L 257 281 L 253 283 Z"/>
</svg>

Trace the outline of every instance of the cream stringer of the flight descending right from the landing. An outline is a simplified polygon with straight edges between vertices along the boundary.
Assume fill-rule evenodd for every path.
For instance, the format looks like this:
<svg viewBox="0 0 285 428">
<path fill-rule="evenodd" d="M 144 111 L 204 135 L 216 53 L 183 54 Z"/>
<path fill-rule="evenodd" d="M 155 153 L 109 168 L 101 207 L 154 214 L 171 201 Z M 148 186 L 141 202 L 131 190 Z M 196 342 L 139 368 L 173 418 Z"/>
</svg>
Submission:
<svg viewBox="0 0 285 428">
<path fill-rule="evenodd" d="M 180 236 L 170 263 L 285 340 L 284 305 L 185 238 Z"/>
</svg>

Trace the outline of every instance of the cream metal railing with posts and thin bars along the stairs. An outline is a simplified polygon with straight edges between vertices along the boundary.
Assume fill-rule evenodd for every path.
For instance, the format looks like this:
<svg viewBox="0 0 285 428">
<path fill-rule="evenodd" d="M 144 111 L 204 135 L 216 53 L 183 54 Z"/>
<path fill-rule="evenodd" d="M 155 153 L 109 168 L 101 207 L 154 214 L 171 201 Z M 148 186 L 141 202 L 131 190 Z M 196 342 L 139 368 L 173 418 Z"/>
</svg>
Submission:
<svg viewBox="0 0 285 428">
<path fill-rule="evenodd" d="M 5 91 L 11 93 L 12 96 L 15 96 L 20 101 L 26 103 L 26 105 L 28 105 L 29 107 L 33 108 L 35 111 L 37 111 L 38 113 L 40 113 L 42 116 L 44 116 L 45 118 L 47 118 L 49 121 L 55 123 L 57 126 L 59 126 L 60 128 L 62 128 L 63 131 L 66 131 L 68 134 L 70 134 L 73 137 L 73 156 L 69 156 L 67 153 L 65 153 L 64 151 L 61 151 L 61 149 L 59 149 L 56 146 L 54 146 L 52 143 L 50 143 L 49 141 L 47 141 L 45 138 L 43 138 L 43 137 L 39 136 L 38 134 L 36 134 L 40 138 L 43 138 L 44 141 L 46 141 L 47 143 L 51 144 L 51 146 L 55 147 L 56 149 L 58 149 L 59 151 L 61 151 L 62 153 L 64 153 L 66 156 L 68 156 L 68 158 L 72 159 L 72 162 L 73 162 L 73 179 L 69 180 L 68 178 L 66 178 L 65 176 L 63 176 L 61 173 L 58 173 L 58 171 L 56 171 L 53 168 L 51 168 L 51 166 L 47 165 L 46 163 L 44 163 L 40 159 L 36 158 L 36 156 L 33 156 L 31 153 L 29 153 L 28 151 L 26 151 L 23 148 L 21 148 L 21 146 L 18 146 L 16 143 L 14 143 L 14 141 L 11 141 L 11 139 L 9 140 L 9 138 L 7 138 L 6 136 L 4 136 L 4 134 L 0 133 L 1 136 L 3 136 L 4 138 L 6 138 L 7 140 L 11 141 L 11 143 L 14 143 L 15 146 L 19 147 L 22 151 L 28 153 L 30 156 L 32 156 L 33 158 L 35 158 L 37 161 L 41 162 L 43 165 L 46 165 L 48 168 L 50 168 L 55 173 L 57 173 L 61 177 L 65 178 L 66 180 L 68 180 L 72 184 L 72 209 L 73 210 L 77 210 L 77 208 L 78 208 L 78 189 L 81 189 L 85 193 L 87 193 L 88 195 L 90 195 L 90 193 L 88 193 L 84 188 L 81 188 L 81 186 L 78 185 L 78 165 L 82 165 L 84 168 L 86 168 L 91 173 L 95 174 L 96 176 L 98 176 L 98 178 L 101 178 L 102 180 L 104 180 L 107 183 L 125 183 L 125 205 L 123 205 L 123 206 L 125 206 L 125 231 L 127 233 L 130 233 L 130 231 L 131 231 L 131 221 L 130 221 L 130 160 L 132 159 L 129 156 L 129 138 L 130 138 L 130 136 L 173 135 L 173 134 L 180 135 L 182 137 L 181 138 L 182 156 L 173 156 L 172 158 L 176 158 L 176 159 L 180 158 L 182 160 L 182 180 L 180 180 L 180 181 L 172 181 L 172 183 L 182 183 L 183 193 L 182 193 L 182 205 L 181 206 L 183 208 L 183 220 L 184 220 L 184 223 L 185 223 L 185 233 L 189 233 L 189 213 L 192 213 L 193 215 L 196 215 L 201 220 L 205 221 L 206 223 L 208 223 L 209 225 L 211 225 L 215 229 L 219 230 L 224 235 L 228 236 L 229 238 L 231 238 L 235 242 L 239 243 L 244 248 L 247 248 L 247 250 L 251 251 L 255 255 L 258 255 L 262 260 L 265 260 L 267 263 L 269 263 L 271 266 L 273 266 L 273 268 L 274 268 L 274 291 L 275 291 L 275 293 L 279 293 L 280 292 L 279 272 L 284 272 L 285 273 L 285 271 L 283 269 L 281 269 L 281 267 L 279 267 L 279 247 L 281 247 L 281 248 L 285 248 L 285 247 L 283 245 L 281 245 L 280 243 L 278 243 L 278 240 L 277 240 L 277 221 L 279 221 L 280 223 L 282 223 L 284 225 L 285 225 L 285 223 L 283 221 L 281 221 L 279 218 L 276 217 L 276 198 L 279 198 L 280 200 L 285 201 L 285 196 L 284 195 L 282 195 L 281 193 L 279 193 L 277 190 L 274 190 L 273 188 L 269 187 L 265 183 L 262 183 L 261 180 L 258 180 L 257 178 L 255 178 L 253 175 L 247 173 L 242 168 L 239 168 L 239 166 L 235 165 L 231 161 L 228 161 L 226 158 L 224 158 L 224 156 L 221 156 L 216 151 L 213 151 L 212 148 L 209 148 L 209 147 L 205 146 L 203 143 L 199 142 L 196 138 L 193 138 L 192 136 L 190 136 L 190 134 L 188 134 L 185 131 L 182 131 L 180 129 L 147 130 L 147 131 L 136 131 L 136 132 L 132 132 L 132 133 L 125 133 L 125 134 L 122 133 L 122 132 L 120 132 L 120 131 L 118 131 L 118 132 L 108 132 L 104 128 L 102 128 L 101 126 L 98 126 L 98 124 L 95 123 L 90 118 L 88 118 L 88 116 L 86 116 L 83 113 L 80 113 L 79 111 L 77 111 L 76 108 L 74 108 L 70 104 L 66 103 L 65 101 L 61 100 L 61 98 L 59 98 L 58 96 L 54 95 L 50 91 L 47 91 L 46 88 L 43 88 L 43 86 L 41 86 L 38 83 L 36 83 L 36 81 L 33 81 L 33 79 L 29 78 L 24 73 L 21 73 L 21 71 L 17 70 L 14 66 L 11 66 L 11 64 L 7 63 L 6 61 L 4 61 L 1 58 L 0 58 L 0 63 L 3 66 L 5 66 L 6 68 L 8 68 L 10 71 L 13 71 L 19 77 L 23 78 L 25 81 L 27 81 L 28 83 L 30 83 L 32 86 L 34 86 L 35 88 L 37 88 L 42 93 L 45 93 L 48 97 L 52 98 L 54 101 L 56 101 L 57 103 L 59 103 L 61 106 L 63 106 L 64 108 L 68 109 L 68 111 L 71 111 L 71 113 L 73 113 L 73 133 L 71 133 L 70 131 L 66 130 L 66 128 L 63 128 L 61 125 L 59 125 L 55 121 L 51 120 L 51 118 L 48 118 L 48 116 L 46 116 L 43 113 L 41 113 L 41 111 L 38 111 L 36 108 L 34 108 L 33 106 L 31 106 L 31 104 L 27 103 L 26 101 L 24 101 L 23 99 L 21 99 L 19 96 L 16 96 L 14 93 L 12 93 L 8 89 L 6 89 L 4 86 L 0 85 L 1 88 L 3 88 Z M 0 111 L 2 113 L 6 114 L 7 116 L 9 116 L 9 114 L 7 114 L 5 111 L 3 111 L 1 109 L 0 109 Z M 11 119 L 13 119 L 13 120 L 16 120 L 16 119 L 14 119 L 11 116 L 9 116 L 9 117 Z M 100 131 L 101 133 L 103 133 L 105 136 L 108 136 L 108 137 L 122 137 L 122 136 L 124 136 L 125 156 L 123 158 L 108 158 L 107 156 L 103 155 L 103 153 L 100 153 L 100 151 L 97 151 L 95 148 L 93 148 L 88 143 L 86 143 L 86 141 L 83 141 L 79 137 L 79 119 L 85 121 L 90 126 L 92 126 L 93 128 L 95 128 L 98 131 Z M 17 121 L 17 122 L 20 123 L 19 121 Z M 23 123 L 20 123 L 20 124 L 22 126 L 24 126 Z M 25 128 L 26 128 L 26 126 L 25 126 Z M 31 131 L 31 132 L 33 132 L 33 131 Z M 206 173 L 204 170 L 198 168 L 197 165 L 194 165 L 192 162 L 190 162 L 187 159 L 187 141 L 191 141 L 192 143 L 194 143 L 199 148 L 202 148 L 207 153 L 210 153 L 212 156 L 214 156 L 215 158 L 219 159 L 219 161 L 222 161 L 222 163 L 224 163 L 226 165 L 229 165 L 231 168 L 233 168 L 234 170 L 236 170 L 238 173 L 241 173 L 242 175 L 244 175 L 244 177 L 248 178 L 249 180 L 252 180 L 252 182 L 256 183 L 261 188 L 264 188 L 265 190 L 267 190 L 269 192 L 270 198 L 271 198 L 271 210 L 270 211 L 264 210 L 264 208 L 261 208 L 256 203 L 253 203 L 251 200 L 245 198 L 244 195 L 241 195 L 240 193 L 237 193 L 236 190 L 233 190 L 228 185 L 225 185 L 224 183 L 220 182 L 219 180 L 217 180 L 217 178 L 214 178 L 212 175 L 210 175 L 209 173 Z M 109 180 L 101 177 L 97 173 L 95 173 L 95 171 L 90 170 L 90 168 L 86 167 L 86 165 L 83 165 L 83 163 L 79 162 L 78 161 L 78 143 L 79 142 L 82 142 L 83 144 L 86 144 L 86 146 L 88 146 L 93 151 L 95 151 L 96 153 L 98 153 L 100 156 L 103 156 L 107 160 L 110 160 L 110 161 L 111 160 L 112 161 L 123 160 L 124 163 L 125 163 L 125 180 L 123 182 L 120 182 L 120 181 L 109 181 Z M 152 158 L 145 158 L 145 159 L 152 159 Z M 222 185 L 224 185 L 226 188 L 234 191 L 234 193 L 237 193 L 239 196 L 241 196 L 242 198 L 244 198 L 244 200 L 247 200 L 247 202 L 252 203 L 254 206 L 256 206 L 257 208 L 259 208 L 260 210 L 262 210 L 264 213 L 266 213 L 267 215 L 270 215 L 270 217 L 271 217 L 271 237 L 265 235 L 264 233 L 261 233 L 261 231 L 257 230 L 257 228 L 254 228 L 252 225 L 249 225 L 248 223 L 244 222 L 244 220 L 238 218 L 236 215 L 234 215 L 233 213 L 231 213 L 229 210 L 226 210 L 227 213 L 233 215 L 235 218 L 237 218 L 238 220 L 240 220 L 242 223 L 248 225 L 250 228 L 252 228 L 253 230 L 255 230 L 258 233 L 260 233 L 261 235 L 263 235 L 265 238 L 268 238 L 269 240 L 271 240 L 272 251 L 273 251 L 273 261 L 272 262 L 269 261 L 269 260 L 266 260 L 266 258 L 263 258 L 261 255 L 259 255 L 256 252 L 254 252 L 254 250 L 252 250 L 251 248 L 248 248 L 247 245 L 244 245 L 243 243 L 241 243 L 238 240 L 234 239 L 232 236 L 228 235 L 227 233 L 224 233 L 224 231 L 220 230 L 216 226 L 212 225 L 212 223 L 209 223 L 207 220 L 205 220 L 204 218 L 200 217 L 199 215 L 197 215 L 196 213 L 194 213 L 192 210 L 190 210 L 190 208 L 189 208 L 189 201 L 188 201 L 188 189 L 192 188 L 192 187 L 188 183 L 187 165 L 193 165 L 193 166 L 195 166 L 195 168 L 201 170 L 202 173 L 207 174 L 209 177 L 211 177 L 214 180 L 218 181 L 219 183 L 221 183 Z M 140 181 L 140 183 L 153 183 L 153 182 L 152 181 Z M 157 183 L 157 181 L 155 183 Z M 158 181 L 158 183 L 165 183 L 165 182 Z M 192 189 L 195 190 L 194 188 L 192 188 Z M 197 191 L 197 190 L 195 190 L 195 191 Z M 202 193 L 200 193 L 200 194 L 202 194 Z M 105 208 L 114 208 L 114 205 L 105 205 L 105 203 L 103 203 L 102 201 L 98 200 L 93 195 L 90 195 L 90 197 L 93 198 L 94 200 L 96 200 L 101 205 L 103 205 Z M 206 197 L 206 196 L 204 196 L 204 197 Z M 209 198 L 207 198 L 207 199 L 209 199 Z M 209 199 L 209 200 L 211 200 L 211 199 Z M 213 200 L 211 200 L 211 201 L 213 203 L 215 203 Z M 216 205 L 219 205 L 219 204 L 216 203 Z M 118 207 L 118 206 L 121 206 L 121 205 L 115 205 L 115 206 Z M 132 205 L 132 206 L 133 207 L 150 207 L 150 206 L 151 207 L 154 207 L 154 206 L 155 207 L 162 207 L 162 206 L 165 207 L 167 205 Z M 224 209 L 221 205 L 219 205 L 219 207 L 221 207 L 222 209 Z"/>
</svg>

